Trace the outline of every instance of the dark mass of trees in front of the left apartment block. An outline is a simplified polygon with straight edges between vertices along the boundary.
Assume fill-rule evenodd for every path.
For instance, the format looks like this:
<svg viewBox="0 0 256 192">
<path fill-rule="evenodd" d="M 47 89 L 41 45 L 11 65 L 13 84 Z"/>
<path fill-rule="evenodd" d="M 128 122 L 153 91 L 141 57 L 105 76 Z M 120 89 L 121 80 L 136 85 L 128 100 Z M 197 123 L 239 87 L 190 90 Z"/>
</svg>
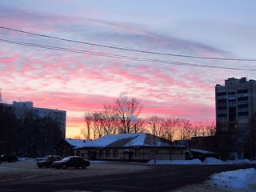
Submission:
<svg viewBox="0 0 256 192">
<path fill-rule="evenodd" d="M 30 110 L 20 115 L 0 103 L 0 141 L 5 145 L 1 153 L 19 157 L 43 157 L 54 154 L 56 143 L 62 139 L 62 130 L 53 118 L 39 118 Z"/>
</svg>

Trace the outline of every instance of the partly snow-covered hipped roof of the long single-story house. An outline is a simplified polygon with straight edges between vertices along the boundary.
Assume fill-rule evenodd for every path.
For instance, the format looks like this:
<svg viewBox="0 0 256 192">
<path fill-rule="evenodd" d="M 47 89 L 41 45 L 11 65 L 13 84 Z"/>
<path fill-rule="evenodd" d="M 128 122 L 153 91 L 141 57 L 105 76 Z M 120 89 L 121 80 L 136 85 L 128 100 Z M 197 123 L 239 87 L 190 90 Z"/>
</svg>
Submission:
<svg viewBox="0 0 256 192">
<path fill-rule="evenodd" d="M 82 146 L 77 146 L 75 149 L 83 147 L 130 147 L 130 146 L 154 146 L 154 135 L 146 133 L 135 134 L 108 134 L 102 138 L 93 141 L 84 142 Z M 165 138 L 155 137 L 155 146 L 170 146 L 170 141 Z M 174 147 L 177 146 L 172 143 Z"/>
</svg>

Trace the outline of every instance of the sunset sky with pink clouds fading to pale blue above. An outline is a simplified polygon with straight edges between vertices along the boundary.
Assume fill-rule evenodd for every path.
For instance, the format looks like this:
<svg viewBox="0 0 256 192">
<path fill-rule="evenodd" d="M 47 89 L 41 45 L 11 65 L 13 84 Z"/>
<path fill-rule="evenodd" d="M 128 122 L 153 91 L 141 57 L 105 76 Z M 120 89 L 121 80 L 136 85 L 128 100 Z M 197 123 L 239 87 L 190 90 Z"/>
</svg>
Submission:
<svg viewBox="0 0 256 192">
<path fill-rule="evenodd" d="M 216 84 L 255 79 L 254 10 L 252 0 L 0 0 L 2 99 L 66 110 L 67 138 L 123 92 L 142 118 L 213 122 Z"/>
</svg>

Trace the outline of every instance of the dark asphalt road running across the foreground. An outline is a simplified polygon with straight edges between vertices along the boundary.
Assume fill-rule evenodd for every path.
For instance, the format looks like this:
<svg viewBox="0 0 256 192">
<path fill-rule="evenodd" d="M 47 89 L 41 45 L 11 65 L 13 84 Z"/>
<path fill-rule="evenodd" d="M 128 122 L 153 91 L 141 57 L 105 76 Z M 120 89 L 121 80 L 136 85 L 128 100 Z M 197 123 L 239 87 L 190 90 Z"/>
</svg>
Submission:
<svg viewBox="0 0 256 192">
<path fill-rule="evenodd" d="M 256 165 L 152 165 L 151 169 L 132 174 L 114 174 L 70 178 L 54 181 L 26 180 L 2 183 L 0 191 L 67 192 L 67 191 L 172 191 L 202 183 L 210 174 L 256 168 Z M 89 168 L 90 169 L 90 168 Z"/>
</svg>

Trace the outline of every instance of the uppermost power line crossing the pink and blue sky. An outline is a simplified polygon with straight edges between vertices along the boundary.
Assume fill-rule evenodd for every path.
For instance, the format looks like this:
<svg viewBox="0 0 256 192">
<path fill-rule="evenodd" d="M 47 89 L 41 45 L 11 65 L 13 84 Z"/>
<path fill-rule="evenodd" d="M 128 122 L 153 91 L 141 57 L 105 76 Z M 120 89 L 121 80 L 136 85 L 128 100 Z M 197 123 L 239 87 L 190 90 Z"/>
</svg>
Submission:
<svg viewBox="0 0 256 192">
<path fill-rule="evenodd" d="M 104 48 L 108 48 L 108 49 L 126 50 L 126 51 L 138 52 L 138 53 L 143 53 L 143 54 L 158 54 L 158 55 L 165 55 L 165 56 L 172 56 L 172 57 L 179 57 L 179 58 L 201 58 L 201 59 L 213 59 L 213 60 L 225 60 L 225 61 L 256 62 L 256 59 L 254 59 L 254 58 L 211 58 L 211 57 L 184 55 L 184 54 L 166 54 L 166 53 L 159 53 L 159 52 L 146 51 L 146 50 L 134 50 L 134 49 L 128 49 L 128 48 L 123 48 L 123 47 L 118 47 L 118 46 L 106 46 L 106 45 L 90 43 L 90 42 L 75 41 L 75 40 L 71 40 L 71 39 L 67 39 L 67 38 L 57 38 L 54 36 L 28 32 L 25 30 L 16 30 L 16 29 L 6 27 L 6 26 L 0 26 L 0 29 L 12 30 L 12 31 L 16 31 L 19 33 L 23 33 L 23 34 L 33 34 L 33 35 L 40 36 L 43 38 L 53 38 L 53 39 L 58 39 L 58 40 L 66 41 L 66 42 L 76 42 L 76 43 L 85 44 L 85 45 L 89 45 L 89 46 L 100 46 L 100 47 L 104 47 Z"/>
</svg>

